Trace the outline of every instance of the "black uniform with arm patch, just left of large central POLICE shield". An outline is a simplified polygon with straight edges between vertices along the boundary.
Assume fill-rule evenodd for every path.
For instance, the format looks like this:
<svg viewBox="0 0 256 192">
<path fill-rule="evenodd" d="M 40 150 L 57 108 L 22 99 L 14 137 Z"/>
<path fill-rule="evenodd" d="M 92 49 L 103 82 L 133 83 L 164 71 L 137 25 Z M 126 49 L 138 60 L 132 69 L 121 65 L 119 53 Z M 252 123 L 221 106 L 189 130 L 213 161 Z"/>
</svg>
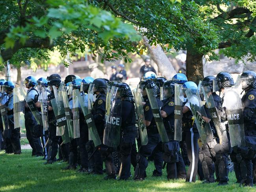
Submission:
<svg viewBox="0 0 256 192">
<path fill-rule="evenodd" d="M 95 122 L 95 126 L 98 131 L 100 140 L 103 139 L 104 133 L 104 120 L 105 120 L 105 110 L 106 110 L 106 94 L 100 93 L 96 96 L 96 101 L 93 103 L 92 115 Z M 89 141 L 86 144 L 88 155 L 91 155 L 94 150 L 95 153 L 91 157 L 90 164 L 93 169 L 94 174 L 103 174 L 103 162 L 101 158 L 98 146 L 94 146 L 93 141 Z M 96 148 L 97 147 L 97 148 Z"/>
</svg>

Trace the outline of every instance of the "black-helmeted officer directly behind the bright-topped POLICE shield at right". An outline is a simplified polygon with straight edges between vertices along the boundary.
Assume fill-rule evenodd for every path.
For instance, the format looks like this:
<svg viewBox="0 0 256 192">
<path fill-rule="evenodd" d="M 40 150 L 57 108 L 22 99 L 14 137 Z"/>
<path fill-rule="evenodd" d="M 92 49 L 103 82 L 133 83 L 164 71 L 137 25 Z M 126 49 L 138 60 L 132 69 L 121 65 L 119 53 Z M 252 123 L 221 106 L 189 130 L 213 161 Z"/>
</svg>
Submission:
<svg viewBox="0 0 256 192">
<path fill-rule="evenodd" d="M 232 87 L 234 85 L 234 79 L 231 74 L 228 72 L 220 72 L 217 74 L 216 78 L 213 80 L 213 92 L 219 91 L 223 92 L 223 97 L 221 98 L 221 109 L 219 109 L 219 114 L 221 116 L 221 120 L 223 121 L 223 124 L 226 126 L 226 134 L 228 140 L 224 140 L 224 143 L 219 146 L 216 145 L 214 148 L 216 152 L 216 162 L 215 162 L 215 171 L 216 171 L 216 177 L 217 181 L 219 181 L 218 185 L 227 185 L 228 184 L 228 155 L 230 155 L 230 159 L 234 162 L 234 170 L 237 177 L 237 182 L 240 183 L 239 177 L 240 175 L 237 174 L 239 167 L 235 163 L 236 162 L 236 154 L 232 151 L 231 144 L 230 144 L 230 136 L 228 131 L 228 124 L 227 124 L 227 116 L 226 116 L 226 107 L 224 106 L 225 103 L 223 103 L 224 99 L 224 88 L 226 87 Z M 232 153 L 231 153 L 232 152 Z M 219 167 L 219 169 L 217 169 Z M 219 173 L 217 171 L 219 170 Z M 219 178 L 218 178 L 219 175 Z"/>
</svg>

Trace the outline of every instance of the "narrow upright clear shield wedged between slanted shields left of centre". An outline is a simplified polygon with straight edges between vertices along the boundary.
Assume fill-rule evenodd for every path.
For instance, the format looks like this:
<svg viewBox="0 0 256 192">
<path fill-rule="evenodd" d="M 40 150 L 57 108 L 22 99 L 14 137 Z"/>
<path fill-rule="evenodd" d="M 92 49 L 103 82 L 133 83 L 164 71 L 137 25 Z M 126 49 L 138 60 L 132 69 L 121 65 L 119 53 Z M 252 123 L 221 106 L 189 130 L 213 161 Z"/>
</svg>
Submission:
<svg viewBox="0 0 256 192">
<path fill-rule="evenodd" d="M 79 90 L 76 91 L 76 89 L 72 90 L 73 95 L 73 130 L 74 130 L 74 138 L 80 137 L 80 119 L 79 119 L 79 102 L 78 102 L 78 96 L 80 95 Z"/>
</svg>

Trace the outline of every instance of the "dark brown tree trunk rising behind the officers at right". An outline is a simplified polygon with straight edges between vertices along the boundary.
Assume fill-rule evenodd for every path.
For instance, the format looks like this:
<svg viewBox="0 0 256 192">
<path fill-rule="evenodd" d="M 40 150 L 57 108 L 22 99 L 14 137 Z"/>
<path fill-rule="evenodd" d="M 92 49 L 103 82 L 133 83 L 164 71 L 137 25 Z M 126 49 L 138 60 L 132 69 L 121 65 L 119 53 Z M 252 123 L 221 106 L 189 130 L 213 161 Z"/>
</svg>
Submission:
<svg viewBox="0 0 256 192">
<path fill-rule="evenodd" d="M 188 81 L 198 84 L 204 78 L 202 57 L 203 54 L 199 54 L 196 50 L 187 49 L 186 76 Z"/>
</svg>

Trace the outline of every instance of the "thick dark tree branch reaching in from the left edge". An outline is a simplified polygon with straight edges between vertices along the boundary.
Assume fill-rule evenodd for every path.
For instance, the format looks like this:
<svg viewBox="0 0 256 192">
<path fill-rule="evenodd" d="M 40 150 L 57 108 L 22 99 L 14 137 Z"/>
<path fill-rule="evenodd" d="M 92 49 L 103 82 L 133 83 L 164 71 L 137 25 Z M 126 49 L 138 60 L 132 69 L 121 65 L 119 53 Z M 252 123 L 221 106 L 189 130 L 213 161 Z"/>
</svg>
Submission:
<svg viewBox="0 0 256 192">
<path fill-rule="evenodd" d="M 28 39 L 25 44 L 21 44 L 19 41 L 15 42 L 13 48 L 1 50 L 1 56 L 4 61 L 11 59 L 13 55 L 22 48 L 52 48 L 54 44 L 51 44 L 50 39 Z"/>
</svg>

